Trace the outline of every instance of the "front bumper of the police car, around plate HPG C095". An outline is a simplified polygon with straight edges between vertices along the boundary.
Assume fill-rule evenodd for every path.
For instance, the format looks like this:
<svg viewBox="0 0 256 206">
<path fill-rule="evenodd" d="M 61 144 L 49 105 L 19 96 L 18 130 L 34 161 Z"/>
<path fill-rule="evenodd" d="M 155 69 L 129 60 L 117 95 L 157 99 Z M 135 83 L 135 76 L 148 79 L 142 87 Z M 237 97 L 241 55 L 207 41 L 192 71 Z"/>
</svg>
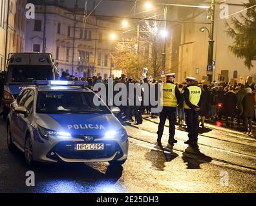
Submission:
<svg viewBox="0 0 256 206">
<path fill-rule="evenodd" d="M 104 149 L 98 151 L 76 151 L 75 144 L 104 144 Z M 128 139 L 105 140 L 98 138 L 85 142 L 80 138 L 58 140 L 55 137 L 43 142 L 33 141 L 33 158 L 38 162 L 109 162 L 126 160 Z"/>
</svg>

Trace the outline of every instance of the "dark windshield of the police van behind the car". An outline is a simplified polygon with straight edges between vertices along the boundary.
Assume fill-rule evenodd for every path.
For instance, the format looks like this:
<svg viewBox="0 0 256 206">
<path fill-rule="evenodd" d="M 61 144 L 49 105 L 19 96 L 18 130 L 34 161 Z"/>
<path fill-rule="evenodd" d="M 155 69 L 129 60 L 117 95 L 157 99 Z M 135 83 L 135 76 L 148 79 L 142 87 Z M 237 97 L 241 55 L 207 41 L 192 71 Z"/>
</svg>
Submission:
<svg viewBox="0 0 256 206">
<path fill-rule="evenodd" d="M 30 83 L 33 80 L 54 80 L 51 66 L 13 65 L 8 67 L 6 82 Z"/>
</svg>

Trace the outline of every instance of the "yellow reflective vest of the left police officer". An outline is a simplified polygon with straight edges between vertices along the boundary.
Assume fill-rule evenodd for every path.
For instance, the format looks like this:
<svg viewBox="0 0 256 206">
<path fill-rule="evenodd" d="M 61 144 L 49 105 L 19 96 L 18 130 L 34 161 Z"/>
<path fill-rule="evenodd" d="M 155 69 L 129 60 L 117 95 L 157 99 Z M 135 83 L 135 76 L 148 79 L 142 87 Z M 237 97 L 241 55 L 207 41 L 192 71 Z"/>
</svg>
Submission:
<svg viewBox="0 0 256 206">
<path fill-rule="evenodd" d="M 163 100 L 162 105 L 164 107 L 175 107 L 177 106 L 177 99 L 175 96 L 176 84 L 164 83 L 163 84 Z"/>
</svg>

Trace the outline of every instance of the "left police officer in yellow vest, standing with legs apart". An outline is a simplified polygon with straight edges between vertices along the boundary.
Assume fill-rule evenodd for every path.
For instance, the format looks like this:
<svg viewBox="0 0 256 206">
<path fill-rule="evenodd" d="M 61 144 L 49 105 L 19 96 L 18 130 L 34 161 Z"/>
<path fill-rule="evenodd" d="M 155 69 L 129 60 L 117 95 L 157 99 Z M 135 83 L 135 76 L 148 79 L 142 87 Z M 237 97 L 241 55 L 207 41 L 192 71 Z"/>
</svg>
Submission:
<svg viewBox="0 0 256 206">
<path fill-rule="evenodd" d="M 160 113 L 160 123 L 157 131 L 157 143 L 161 145 L 161 138 L 164 132 L 165 120 L 168 117 L 169 119 L 169 144 L 174 144 L 177 141 L 175 140 L 175 122 L 176 122 L 176 106 L 178 100 L 180 99 L 180 92 L 178 87 L 174 83 L 175 73 L 166 75 L 166 82 L 163 84 L 163 98 L 162 106 L 163 110 Z"/>
</svg>

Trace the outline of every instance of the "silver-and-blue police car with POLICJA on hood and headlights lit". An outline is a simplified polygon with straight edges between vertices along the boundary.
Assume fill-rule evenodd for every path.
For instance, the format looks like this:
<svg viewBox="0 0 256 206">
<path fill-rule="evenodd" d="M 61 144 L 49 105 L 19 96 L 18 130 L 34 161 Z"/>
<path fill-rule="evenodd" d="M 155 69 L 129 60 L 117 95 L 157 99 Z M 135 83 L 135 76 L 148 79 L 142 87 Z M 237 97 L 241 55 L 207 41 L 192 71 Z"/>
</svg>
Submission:
<svg viewBox="0 0 256 206">
<path fill-rule="evenodd" d="M 7 118 L 8 149 L 18 147 L 34 162 L 101 162 L 127 159 L 127 132 L 84 82 L 35 80 L 12 103 Z M 96 96 L 96 97 L 95 97 Z M 101 101 L 95 106 L 94 98 Z"/>
</svg>

